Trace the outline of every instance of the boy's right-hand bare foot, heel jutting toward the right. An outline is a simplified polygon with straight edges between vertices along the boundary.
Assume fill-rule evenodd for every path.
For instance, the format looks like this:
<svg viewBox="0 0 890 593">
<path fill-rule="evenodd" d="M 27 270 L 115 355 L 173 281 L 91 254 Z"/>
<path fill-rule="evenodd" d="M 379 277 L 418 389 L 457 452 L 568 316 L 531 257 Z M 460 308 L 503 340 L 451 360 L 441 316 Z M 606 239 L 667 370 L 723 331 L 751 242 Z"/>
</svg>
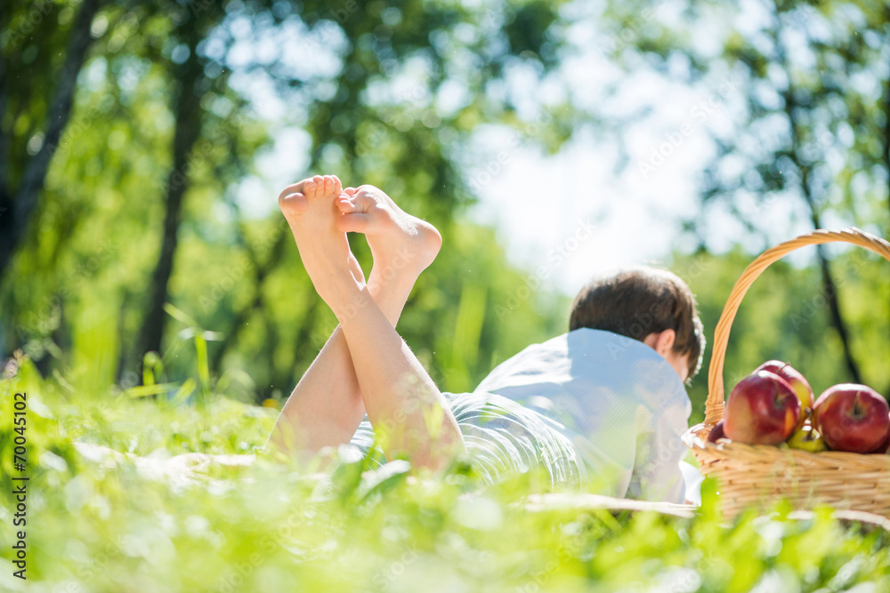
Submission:
<svg viewBox="0 0 890 593">
<path fill-rule="evenodd" d="M 371 185 L 346 188 L 336 206 L 344 215 L 337 228 L 368 239 L 374 267 L 368 284 L 384 284 L 395 276 L 413 285 L 439 253 L 442 237 L 432 224 L 404 212 L 390 196 Z"/>
</svg>

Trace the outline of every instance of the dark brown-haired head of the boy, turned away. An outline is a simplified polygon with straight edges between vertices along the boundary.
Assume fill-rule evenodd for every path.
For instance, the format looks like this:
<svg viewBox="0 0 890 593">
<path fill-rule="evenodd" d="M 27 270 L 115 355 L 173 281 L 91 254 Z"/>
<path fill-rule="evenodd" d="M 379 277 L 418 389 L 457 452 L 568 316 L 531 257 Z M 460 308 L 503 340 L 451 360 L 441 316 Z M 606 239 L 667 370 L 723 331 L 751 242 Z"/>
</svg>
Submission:
<svg viewBox="0 0 890 593">
<path fill-rule="evenodd" d="M 630 268 L 596 276 L 571 306 L 569 329 L 580 327 L 642 341 L 665 357 L 684 381 L 699 372 L 705 333 L 695 296 L 666 269 Z"/>
</svg>

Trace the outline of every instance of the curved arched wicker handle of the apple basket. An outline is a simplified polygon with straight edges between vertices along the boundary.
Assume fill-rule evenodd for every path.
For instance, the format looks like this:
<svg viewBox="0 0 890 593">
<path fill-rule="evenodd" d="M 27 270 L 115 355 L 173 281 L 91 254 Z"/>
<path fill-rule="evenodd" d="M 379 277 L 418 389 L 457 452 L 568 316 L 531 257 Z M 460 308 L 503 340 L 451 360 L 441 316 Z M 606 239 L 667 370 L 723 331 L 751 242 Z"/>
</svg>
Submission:
<svg viewBox="0 0 890 593">
<path fill-rule="evenodd" d="M 748 292 L 748 288 L 774 261 L 794 250 L 806 245 L 823 243 L 852 243 L 872 252 L 878 253 L 885 260 L 890 261 L 890 243 L 879 236 L 866 233 L 859 228 L 845 228 L 838 230 L 814 230 L 812 233 L 798 236 L 784 243 L 780 243 L 761 253 L 752 261 L 748 268 L 741 273 L 740 278 L 732 287 L 726 306 L 720 315 L 720 321 L 714 330 L 714 349 L 711 353 L 711 364 L 708 366 L 708 399 L 705 400 L 705 424 L 716 424 L 724 417 L 724 381 L 723 370 L 726 359 L 726 344 L 729 342 L 729 331 L 732 321 L 739 310 L 741 300 Z"/>
</svg>

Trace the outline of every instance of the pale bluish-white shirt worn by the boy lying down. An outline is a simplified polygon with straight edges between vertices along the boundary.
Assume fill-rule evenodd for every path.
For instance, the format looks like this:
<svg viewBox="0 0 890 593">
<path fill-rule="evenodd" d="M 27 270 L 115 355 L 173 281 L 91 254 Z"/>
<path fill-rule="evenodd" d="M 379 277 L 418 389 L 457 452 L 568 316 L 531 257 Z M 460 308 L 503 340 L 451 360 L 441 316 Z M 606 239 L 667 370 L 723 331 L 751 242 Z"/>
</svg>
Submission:
<svg viewBox="0 0 890 593">
<path fill-rule="evenodd" d="M 586 490 L 684 501 L 680 437 L 692 403 L 676 371 L 643 342 L 578 329 L 498 365 L 482 392 L 530 408 L 567 437 Z"/>
</svg>

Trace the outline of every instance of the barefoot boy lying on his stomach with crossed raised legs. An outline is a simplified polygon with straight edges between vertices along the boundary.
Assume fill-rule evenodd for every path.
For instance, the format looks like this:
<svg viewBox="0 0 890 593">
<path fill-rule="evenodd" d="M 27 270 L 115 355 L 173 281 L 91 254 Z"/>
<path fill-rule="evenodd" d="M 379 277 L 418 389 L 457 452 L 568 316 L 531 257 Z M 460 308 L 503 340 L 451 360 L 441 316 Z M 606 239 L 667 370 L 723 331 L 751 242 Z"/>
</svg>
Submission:
<svg viewBox="0 0 890 593">
<path fill-rule="evenodd" d="M 394 329 L 439 252 L 436 229 L 381 190 L 343 189 L 330 175 L 288 186 L 279 206 L 340 326 L 288 398 L 272 443 L 317 453 L 376 439 L 389 459 L 422 468 L 466 452 L 492 480 L 538 466 L 554 487 L 683 501 L 683 381 L 702 341 L 679 278 L 645 268 L 595 281 L 578 295 L 570 333 L 523 350 L 472 394 L 443 395 Z M 368 239 L 367 283 L 346 232 Z"/>
</svg>

